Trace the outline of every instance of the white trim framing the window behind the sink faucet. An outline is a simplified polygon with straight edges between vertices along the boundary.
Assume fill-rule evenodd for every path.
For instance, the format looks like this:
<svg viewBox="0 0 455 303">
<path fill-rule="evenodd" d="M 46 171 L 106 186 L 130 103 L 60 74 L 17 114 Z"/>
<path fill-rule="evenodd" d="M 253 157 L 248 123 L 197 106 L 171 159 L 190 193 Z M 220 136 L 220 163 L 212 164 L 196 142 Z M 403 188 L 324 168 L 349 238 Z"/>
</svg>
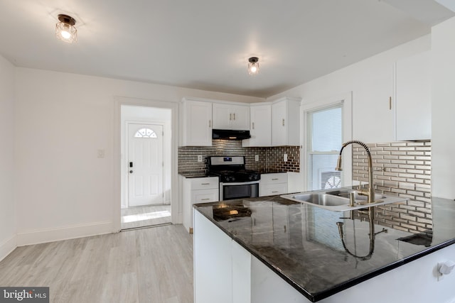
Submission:
<svg viewBox="0 0 455 303">
<path fill-rule="evenodd" d="M 307 126 L 307 114 L 311 111 L 318 111 L 325 109 L 336 104 L 343 102 L 343 142 L 350 141 L 353 139 L 353 100 L 352 92 L 340 94 L 334 97 L 328 97 L 320 99 L 318 101 L 302 104 L 301 106 L 301 140 L 304 145 L 301 146 L 300 152 L 300 167 L 303 167 L 301 174 L 303 174 L 304 191 L 309 190 L 308 188 L 308 158 L 306 154 L 306 147 L 308 146 L 308 126 Z M 340 146 L 341 149 L 341 146 Z M 352 185 L 352 148 L 345 148 L 343 150 L 343 171 L 341 175 L 344 180 L 344 186 Z"/>
</svg>

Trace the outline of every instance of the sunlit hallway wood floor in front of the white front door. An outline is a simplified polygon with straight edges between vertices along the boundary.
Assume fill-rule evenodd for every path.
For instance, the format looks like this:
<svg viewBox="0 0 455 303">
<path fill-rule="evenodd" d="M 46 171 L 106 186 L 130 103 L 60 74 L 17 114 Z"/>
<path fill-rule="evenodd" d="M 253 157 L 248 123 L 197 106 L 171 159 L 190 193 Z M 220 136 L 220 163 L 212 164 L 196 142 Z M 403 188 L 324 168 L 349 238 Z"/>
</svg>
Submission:
<svg viewBox="0 0 455 303">
<path fill-rule="evenodd" d="M 122 229 L 171 223 L 171 204 L 122 209 Z"/>
</svg>

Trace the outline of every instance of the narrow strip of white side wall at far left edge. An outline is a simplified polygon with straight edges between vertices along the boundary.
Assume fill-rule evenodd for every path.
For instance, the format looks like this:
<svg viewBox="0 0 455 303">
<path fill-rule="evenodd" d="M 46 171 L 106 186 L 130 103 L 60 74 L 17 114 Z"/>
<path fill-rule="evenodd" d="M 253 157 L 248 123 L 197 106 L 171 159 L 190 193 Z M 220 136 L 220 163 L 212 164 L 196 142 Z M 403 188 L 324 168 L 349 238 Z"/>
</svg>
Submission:
<svg viewBox="0 0 455 303">
<path fill-rule="evenodd" d="M 0 260 L 16 248 L 14 68 L 0 56 Z"/>
</svg>

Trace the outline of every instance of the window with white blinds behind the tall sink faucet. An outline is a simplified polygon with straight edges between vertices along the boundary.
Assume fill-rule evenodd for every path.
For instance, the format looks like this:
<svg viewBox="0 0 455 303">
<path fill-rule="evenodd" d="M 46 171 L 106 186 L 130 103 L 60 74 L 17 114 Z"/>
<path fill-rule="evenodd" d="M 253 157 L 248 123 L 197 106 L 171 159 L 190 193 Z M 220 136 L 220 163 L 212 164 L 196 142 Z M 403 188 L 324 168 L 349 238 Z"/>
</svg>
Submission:
<svg viewBox="0 0 455 303">
<path fill-rule="evenodd" d="M 335 170 L 343 144 L 343 104 L 307 112 L 308 188 L 341 187 L 343 180 Z"/>
</svg>

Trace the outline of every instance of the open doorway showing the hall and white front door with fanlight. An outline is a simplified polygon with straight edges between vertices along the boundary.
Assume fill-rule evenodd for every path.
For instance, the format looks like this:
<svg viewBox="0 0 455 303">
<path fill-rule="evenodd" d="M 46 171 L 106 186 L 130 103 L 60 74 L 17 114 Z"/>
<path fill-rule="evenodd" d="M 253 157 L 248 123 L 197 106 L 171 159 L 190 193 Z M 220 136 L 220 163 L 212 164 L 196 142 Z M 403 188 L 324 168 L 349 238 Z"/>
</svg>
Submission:
<svg viewBox="0 0 455 303">
<path fill-rule="evenodd" d="M 171 224 L 171 109 L 122 105 L 121 230 Z"/>
</svg>

